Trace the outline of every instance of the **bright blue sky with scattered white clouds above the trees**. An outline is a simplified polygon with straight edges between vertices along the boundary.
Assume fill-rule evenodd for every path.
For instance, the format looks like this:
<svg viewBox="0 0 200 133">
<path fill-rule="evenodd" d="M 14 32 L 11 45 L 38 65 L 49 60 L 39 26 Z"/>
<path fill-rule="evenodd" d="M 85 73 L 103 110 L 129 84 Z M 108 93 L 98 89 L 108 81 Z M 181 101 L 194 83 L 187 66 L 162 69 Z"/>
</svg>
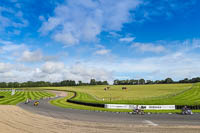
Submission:
<svg viewBox="0 0 200 133">
<path fill-rule="evenodd" d="M 198 76 L 198 0 L 0 0 L 0 82 Z"/>
</svg>

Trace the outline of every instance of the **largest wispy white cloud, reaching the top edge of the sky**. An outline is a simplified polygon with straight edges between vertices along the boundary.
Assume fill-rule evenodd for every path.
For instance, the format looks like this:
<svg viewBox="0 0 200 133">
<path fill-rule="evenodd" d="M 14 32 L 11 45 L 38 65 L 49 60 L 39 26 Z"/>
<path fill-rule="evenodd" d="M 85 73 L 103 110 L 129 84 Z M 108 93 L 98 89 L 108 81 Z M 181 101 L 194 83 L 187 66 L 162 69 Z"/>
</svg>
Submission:
<svg viewBox="0 0 200 133">
<path fill-rule="evenodd" d="M 54 16 L 43 22 L 42 34 L 53 32 L 53 39 L 71 46 L 80 41 L 96 41 L 102 31 L 120 31 L 131 22 L 131 13 L 139 0 L 66 0 L 54 10 Z"/>
</svg>

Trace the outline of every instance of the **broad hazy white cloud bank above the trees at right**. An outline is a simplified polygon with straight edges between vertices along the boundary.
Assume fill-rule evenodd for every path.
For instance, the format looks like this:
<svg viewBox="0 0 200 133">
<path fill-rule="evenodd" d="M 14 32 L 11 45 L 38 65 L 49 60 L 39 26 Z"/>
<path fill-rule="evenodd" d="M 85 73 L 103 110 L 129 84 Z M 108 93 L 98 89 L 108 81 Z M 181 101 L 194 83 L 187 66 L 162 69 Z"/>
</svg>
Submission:
<svg viewBox="0 0 200 133">
<path fill-rule="evenodd" d="M 98 66 L 113 71 L 116 77 L 150 78 L 153 80 L 172 77 L 174 79 L 192 78 L 200 75 L 200 55 L 184 52 L 172 52 L 164 56 L 145 58 L 119 58 L 114 61 L 93 61 Z"/>
</svg>

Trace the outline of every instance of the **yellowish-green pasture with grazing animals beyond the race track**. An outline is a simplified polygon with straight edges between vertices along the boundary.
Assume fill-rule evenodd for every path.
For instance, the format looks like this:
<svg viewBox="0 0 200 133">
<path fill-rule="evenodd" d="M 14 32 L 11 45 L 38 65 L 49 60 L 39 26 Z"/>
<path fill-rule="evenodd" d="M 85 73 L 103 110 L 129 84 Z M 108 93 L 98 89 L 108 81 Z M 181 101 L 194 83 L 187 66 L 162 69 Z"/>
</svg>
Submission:
<svg viewBox="0 0 200 133">
<path fill-rule="evenodd" d="M 159 84 L 159 85 L 110 85 L 110 90 L 104 91 L 105 85 L 76 86 L 76 87 L 40 87 L 38 89 L 72 90 L 90 97 L 89 99 L 104 101 L 138 100 L 153 97 L 170 96 L 192 87 L 192 84 Z M 81 94 L 81 95 L 82 95 Z M 81 98 L 82 96 L 80 96 Z M 84 97 L 82 97 L 85 99 Z M 88 98 L 86 98 L 88 99 Z"/>
</svg>

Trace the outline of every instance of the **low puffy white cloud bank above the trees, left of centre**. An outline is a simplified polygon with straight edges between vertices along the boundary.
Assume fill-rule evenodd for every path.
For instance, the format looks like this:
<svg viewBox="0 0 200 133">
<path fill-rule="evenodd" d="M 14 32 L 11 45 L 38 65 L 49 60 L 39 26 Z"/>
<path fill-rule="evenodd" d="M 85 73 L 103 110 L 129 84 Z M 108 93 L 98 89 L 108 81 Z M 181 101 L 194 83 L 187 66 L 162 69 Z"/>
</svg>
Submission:
<svg viewBox="0 0 200 133">
<path fill-rule="evenodd" d="M 46 62 L 32 70 L 32 80 L 62 81 L 75 80 L 89 82 L 91 78 L 112 81 L 112 72 L 84 63 L 64 65 L 62 62 Z"/>
</svg>

